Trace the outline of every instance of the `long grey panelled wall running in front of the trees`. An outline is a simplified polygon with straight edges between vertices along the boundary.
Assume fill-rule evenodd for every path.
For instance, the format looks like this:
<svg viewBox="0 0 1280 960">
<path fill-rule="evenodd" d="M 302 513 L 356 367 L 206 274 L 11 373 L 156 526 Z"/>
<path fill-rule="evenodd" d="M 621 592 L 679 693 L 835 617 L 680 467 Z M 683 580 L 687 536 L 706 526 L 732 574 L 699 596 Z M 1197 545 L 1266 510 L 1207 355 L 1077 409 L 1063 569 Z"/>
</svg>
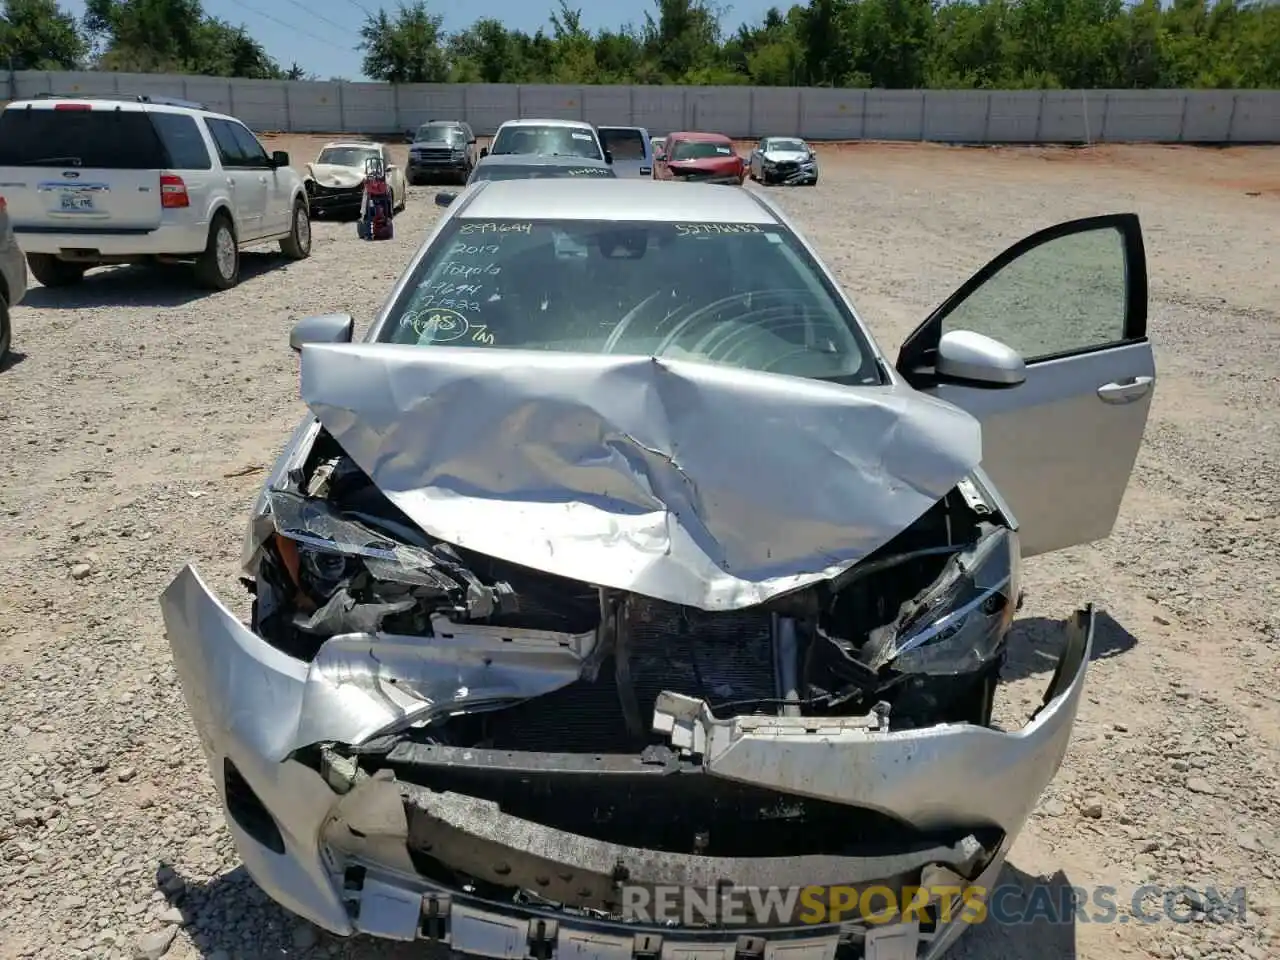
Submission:
<svg viewBox="0 0 1280 960">
<path fill-rule="evenodd" d="M 401 134 L 465 119 L 485 137 L 517 116 L 635 124 L 654 136 L 707 129 L 741 140 L 929 140 L 964 143 L 1280 143 L 1280 91 L 805 90 L 333 83 L 18 70 L 9 99 L 36 93 L 172 96 L 261 132 Z"/>
</svg>

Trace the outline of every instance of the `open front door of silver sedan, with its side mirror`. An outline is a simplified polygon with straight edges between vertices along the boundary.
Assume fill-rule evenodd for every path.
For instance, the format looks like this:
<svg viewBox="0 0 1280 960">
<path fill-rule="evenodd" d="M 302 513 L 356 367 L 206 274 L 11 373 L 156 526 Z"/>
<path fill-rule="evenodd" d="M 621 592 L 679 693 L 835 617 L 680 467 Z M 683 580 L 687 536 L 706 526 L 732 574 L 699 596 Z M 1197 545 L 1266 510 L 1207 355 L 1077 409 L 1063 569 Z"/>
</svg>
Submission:
<svg viewBox="0 0 1280 960">
<path fill-rule="evenodd" d="M 1024 557 L 1107 536 L 1156 385 L 1138 216 L 1015 243 L 906 339 L 897 370 L 982 422 Z"/>
</svg>

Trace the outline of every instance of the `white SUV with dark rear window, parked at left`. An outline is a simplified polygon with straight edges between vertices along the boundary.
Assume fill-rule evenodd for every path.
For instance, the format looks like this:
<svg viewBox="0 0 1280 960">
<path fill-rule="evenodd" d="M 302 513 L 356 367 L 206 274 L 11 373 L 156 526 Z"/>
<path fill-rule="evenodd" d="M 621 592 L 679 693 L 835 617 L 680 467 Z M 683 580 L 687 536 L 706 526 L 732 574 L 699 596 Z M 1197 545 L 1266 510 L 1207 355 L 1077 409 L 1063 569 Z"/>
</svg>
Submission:
<svg viewBox="0 0 1280 960">
<path fill-rule="evenodd" d="M 0 113 L 0 193 L 31 273 L 77 283 L 100 264 L 195 261 L 234 287 L 239 250 L 311 255 L 302 179 L 239 120 L 161 97 L 42 96 Z"/>
</svg>

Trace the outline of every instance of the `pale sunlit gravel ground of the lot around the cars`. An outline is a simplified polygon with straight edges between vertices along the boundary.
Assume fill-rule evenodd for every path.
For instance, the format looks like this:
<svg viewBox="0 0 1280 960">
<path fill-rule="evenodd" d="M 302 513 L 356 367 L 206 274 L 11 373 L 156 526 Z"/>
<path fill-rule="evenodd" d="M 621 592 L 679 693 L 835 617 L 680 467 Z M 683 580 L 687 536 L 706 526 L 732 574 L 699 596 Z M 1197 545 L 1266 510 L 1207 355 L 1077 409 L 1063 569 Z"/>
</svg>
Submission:
<svg viewBox="0 0 1280 960">
<path fill-rule="evenodd" d="M 237 869 L 156 596 L 186 561 L 242 594 L 247 504 L 303 412 L 289 325 L 367 320 L 435 218 L 433 193 L 411 191 L 394 242 L 317 224 L 310 260 L 247 257 L 225 293 L 129 268 L 35 288 L 14 311 L 0 371 L 0 957 L 422 955 L 320 933 Z M 1042 618 L 1088 599 L 1105 616 L 1074 744 L 1007 879 L 1115 887 L 1121 915 L 1143 883 L 1244 886 L 1249 911 L 1221 922 L 1187 895 L 1171 899 L 1185 923 L 987 924 L 956 956 L 1276 956 L 1280 151 L 842 147 L 824 151 L 819 187 L 776 196 L 893 348 L 1019 237 L 1142 215 L 1160 385 L 1115 534 L 1028 564 L 1010 703 L 1048 681 Z"/>
</svg>

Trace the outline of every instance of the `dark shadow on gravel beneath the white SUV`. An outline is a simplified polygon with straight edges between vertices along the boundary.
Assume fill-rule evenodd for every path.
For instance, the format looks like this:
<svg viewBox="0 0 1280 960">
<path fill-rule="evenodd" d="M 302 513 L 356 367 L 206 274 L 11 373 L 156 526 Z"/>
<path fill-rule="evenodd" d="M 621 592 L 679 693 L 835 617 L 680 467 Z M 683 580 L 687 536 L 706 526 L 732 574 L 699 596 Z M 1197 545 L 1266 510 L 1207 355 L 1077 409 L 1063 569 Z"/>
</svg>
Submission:
<svg viewBox="0 0 1280 960">
<path fill-rule="evenodd" d="M 241 284 L 291 262 L 279 252 L 241 252 Z M 40 310 L 86 307 L 179 307 L 214 293 L 196 285 L 186 264 L 131 264 L 90 271 L 74 287 L 32 287 L 22 306 Z"/>
</svg>

